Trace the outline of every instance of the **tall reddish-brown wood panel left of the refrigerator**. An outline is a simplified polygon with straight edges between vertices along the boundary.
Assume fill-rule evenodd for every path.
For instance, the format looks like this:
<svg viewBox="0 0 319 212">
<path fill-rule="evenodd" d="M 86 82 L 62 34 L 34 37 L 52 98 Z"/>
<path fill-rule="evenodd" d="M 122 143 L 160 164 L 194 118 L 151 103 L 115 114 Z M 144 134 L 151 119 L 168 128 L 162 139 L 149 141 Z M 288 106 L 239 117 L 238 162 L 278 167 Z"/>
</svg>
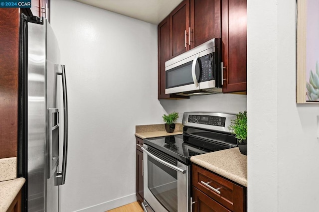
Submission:
<svg viewBox="0 0 319 212">
<path fill-rule="evenodd" d="M 19 11 L 0 8 L 0 158 L 17 156 Z"/>
</svg>

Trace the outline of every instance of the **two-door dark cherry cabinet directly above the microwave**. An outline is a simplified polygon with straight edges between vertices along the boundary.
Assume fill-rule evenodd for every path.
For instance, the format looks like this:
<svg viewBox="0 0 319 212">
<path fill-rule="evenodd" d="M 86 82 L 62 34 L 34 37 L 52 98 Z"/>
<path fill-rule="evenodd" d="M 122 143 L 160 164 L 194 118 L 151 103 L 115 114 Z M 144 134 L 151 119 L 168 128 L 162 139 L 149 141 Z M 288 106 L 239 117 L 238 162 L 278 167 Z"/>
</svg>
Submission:
<svg viewBox="0 0 319 212">
<path fill-rule="evenodd" d="M 184 0 L 170 14 L 170 58 L 221 37 L 220 0 Z"/>
</svg>

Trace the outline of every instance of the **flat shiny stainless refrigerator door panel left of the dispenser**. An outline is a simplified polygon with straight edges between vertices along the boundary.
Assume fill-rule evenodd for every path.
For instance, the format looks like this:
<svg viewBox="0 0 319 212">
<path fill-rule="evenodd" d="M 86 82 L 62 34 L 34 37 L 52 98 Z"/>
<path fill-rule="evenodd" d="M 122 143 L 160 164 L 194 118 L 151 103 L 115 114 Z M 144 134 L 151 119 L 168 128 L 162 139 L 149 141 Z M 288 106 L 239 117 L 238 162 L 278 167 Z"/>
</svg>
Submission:
<svg viewBox="0 0 319 212">
<path fill-rule="evenodd" d="M 27 211 L 38 212 L 46 201 L 45 27 L 27 25 Z"/>
</svg>

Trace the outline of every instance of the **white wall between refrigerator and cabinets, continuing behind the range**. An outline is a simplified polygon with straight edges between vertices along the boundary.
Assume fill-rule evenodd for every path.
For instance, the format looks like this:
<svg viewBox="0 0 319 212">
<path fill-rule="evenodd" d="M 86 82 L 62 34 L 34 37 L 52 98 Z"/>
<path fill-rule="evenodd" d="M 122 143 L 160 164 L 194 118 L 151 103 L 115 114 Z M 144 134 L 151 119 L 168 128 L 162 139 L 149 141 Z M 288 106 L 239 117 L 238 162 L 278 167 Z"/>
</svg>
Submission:
<svg viewBox="0 0 319 212">
<path fill-rule="evenodd" d="M 163 123 L 171 111 L 180 112 L 181 122 L 184 111 L 246 109 L 245 95 L 158 101 L 156 25 L 72 0 L 50 6 L 70 113 L 62 212 L 135 201 L 135 125 Z"/>
</svg>

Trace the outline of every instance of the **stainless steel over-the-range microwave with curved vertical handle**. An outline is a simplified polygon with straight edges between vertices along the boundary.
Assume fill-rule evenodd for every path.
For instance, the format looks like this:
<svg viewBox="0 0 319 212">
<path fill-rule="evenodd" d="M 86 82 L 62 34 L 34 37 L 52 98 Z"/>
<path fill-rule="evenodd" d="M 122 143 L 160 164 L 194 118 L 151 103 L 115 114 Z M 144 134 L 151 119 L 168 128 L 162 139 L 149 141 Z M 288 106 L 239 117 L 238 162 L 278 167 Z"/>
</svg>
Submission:
<svg viewBox="0 0 319 212">
<path fill-rule="evenodd" d="M 222 92 L 221 41 L 213 38 L 165 62 L 165 94 Z"/>
</svg>

